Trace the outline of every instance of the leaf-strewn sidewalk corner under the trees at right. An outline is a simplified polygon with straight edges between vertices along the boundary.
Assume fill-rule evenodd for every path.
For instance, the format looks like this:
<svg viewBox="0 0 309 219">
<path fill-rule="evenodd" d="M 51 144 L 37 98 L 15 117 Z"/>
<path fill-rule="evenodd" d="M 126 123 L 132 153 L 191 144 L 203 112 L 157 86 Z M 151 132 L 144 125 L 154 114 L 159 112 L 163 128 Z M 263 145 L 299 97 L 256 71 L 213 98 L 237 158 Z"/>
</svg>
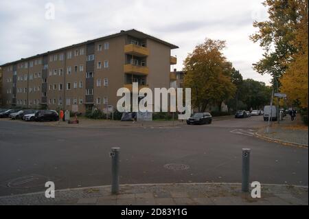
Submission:
<svg viewBox="0 0 309 219">
<path fill-rule="evenodd" d="M 266 140 L 308 148 L 308 126 L 302 124 L 300 119 L 299 116 L 297 120 L 291 121 L 290 117 L 286 116 L 280 124 L 272 122 L 268 132 L 265 127 L 256 134 Z"/>
</svg>

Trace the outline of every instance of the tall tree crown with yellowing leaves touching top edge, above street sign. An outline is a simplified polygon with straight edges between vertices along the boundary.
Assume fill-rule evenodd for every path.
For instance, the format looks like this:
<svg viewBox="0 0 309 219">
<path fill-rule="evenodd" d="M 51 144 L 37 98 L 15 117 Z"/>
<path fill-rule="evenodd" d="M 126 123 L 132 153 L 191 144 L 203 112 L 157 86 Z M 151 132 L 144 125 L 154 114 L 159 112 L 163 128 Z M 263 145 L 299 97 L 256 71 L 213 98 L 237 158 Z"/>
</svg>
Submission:
<svg viewBox="0 0 309 219">
<path fill-rule="evenodd" d="M 253 69 L 273 76 L 273 82 L 281 77 L 288 68 L 297 48 L 292 43 L 299 22 L 299 2 L 306 0 L 266 0 L 268 20 L 253 23 L 258 32 L 251 35 L 254 43 L 260 42 L 264 49 L 263 58 L 253 64 Z"/>
</svg>

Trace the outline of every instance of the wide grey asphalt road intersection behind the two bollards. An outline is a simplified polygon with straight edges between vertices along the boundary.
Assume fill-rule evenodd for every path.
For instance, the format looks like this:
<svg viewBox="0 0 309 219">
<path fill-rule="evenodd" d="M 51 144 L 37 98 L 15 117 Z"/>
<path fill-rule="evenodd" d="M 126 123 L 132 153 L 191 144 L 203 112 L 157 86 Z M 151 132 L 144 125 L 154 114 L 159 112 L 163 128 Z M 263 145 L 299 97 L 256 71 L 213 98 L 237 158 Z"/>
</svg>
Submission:
<svg viewBox="0 0 309 219">
<path fill-rule="evenodd" d="M 241 182 L 242 148 L 251 181 L 308 185 L 308 149 L 252 136 L 262 117 L 180 128 L 57 128 L 0 119 L 0 196 L 109 185 L 111 147 L 121 148 L 120 183 Z M 183 164 L 186 170 L 164 165 Z M 178 166 L 179 167 L 179 166 Z"/>
</svg>

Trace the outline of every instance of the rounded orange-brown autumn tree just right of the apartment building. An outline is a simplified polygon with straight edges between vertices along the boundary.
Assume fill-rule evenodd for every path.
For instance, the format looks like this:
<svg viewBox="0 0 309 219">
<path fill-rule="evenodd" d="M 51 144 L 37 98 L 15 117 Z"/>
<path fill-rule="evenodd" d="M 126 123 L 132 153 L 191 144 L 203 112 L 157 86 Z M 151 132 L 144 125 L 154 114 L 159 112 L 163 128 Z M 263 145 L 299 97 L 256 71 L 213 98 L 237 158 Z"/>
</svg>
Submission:
<svg viewBox="0 0 309 219">
<path fill-rule="evenodd" d="M 209 104 L 221 106 L 236 91 L 231 82 L 231 63 L 222 54 L 224 48 L 225 41 L 206 38 L 184 61 L 185 87 L 192 89 L 192 102 L 198 110 L 205 111 Z"/>
</svg>

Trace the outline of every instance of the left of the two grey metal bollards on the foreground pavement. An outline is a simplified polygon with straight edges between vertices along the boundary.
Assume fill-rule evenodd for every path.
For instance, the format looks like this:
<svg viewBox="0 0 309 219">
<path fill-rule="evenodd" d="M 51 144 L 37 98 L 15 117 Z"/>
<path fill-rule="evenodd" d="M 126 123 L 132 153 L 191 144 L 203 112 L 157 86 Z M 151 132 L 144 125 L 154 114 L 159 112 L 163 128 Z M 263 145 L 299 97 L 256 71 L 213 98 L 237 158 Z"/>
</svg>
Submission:
<svg viewBox="0 0 309 219">
<path fill-rule="evenodd" d="M 120 148 L 111 148 L 110 157 L 112 159 L 112 194 L 119 192 L 119 151 Z"/>
</svg>

